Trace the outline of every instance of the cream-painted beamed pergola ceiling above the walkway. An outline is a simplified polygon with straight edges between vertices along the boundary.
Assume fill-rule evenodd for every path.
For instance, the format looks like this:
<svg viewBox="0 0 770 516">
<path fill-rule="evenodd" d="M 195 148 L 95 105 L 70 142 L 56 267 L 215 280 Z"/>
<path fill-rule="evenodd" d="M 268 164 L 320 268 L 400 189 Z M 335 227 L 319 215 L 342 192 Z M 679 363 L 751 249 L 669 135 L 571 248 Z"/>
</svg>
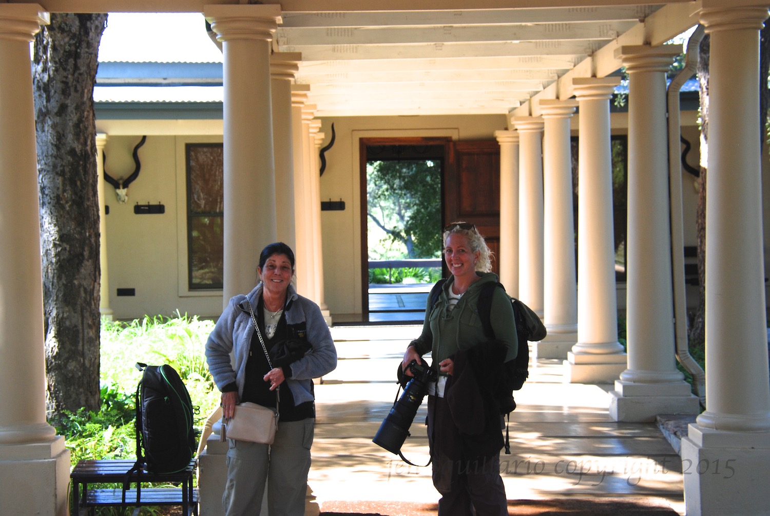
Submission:
<svg viewBox="0 0 770 516">
<path fill-rule="evenodd" d="M 249 2 L 40 2 L 52 12 L 203 12 L 238 3 Z M 273 50 L 301 52 L 296 83 L 310 86 L 316 116 L 536 115 L 538 99 L 569 98 L 576 77 L 617 73 L 619 47 L 663 44 L 695 25 L 701 7 L 690 0 L 263 3 L 280 3 Z"/>
</svg>

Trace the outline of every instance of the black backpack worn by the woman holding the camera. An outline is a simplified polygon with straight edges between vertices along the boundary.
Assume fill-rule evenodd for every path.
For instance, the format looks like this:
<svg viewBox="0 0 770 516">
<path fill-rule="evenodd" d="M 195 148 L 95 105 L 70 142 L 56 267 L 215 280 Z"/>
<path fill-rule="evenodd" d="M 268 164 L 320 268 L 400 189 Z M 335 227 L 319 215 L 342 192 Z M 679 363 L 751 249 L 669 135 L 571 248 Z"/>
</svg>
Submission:
<svg viewBox="0 0 770 516">
<path fill-rule="evenodd" d="M 438 300 L 441 293 L 441 287 L 446 279 L 440 279 L 430 290 L 430 309 Z M 478 299 L 478 313 L 481 318 L 481 325 L 484 326 L 484 335 L 489 339 L 494 339 L 492 322 L 490 321 L 490 312 L 492 311 L 492 295 L 494 289 L 505 287 L 497 282 L 486 283 L 482 285 Z M 516 323 L 516 336 L 519 342 L 516 358 L 505 363 L 505 376 L 507 387 L 510 390 L 520 390 L 524 381 L 529 376 L 529 344 L 528 341 L 537 342 L 546 336 L 546 329 L 537 314 L 530 307 L 519 301 L 517 298 L 511 298 L 511 306 L 514 309 L 514 322 Z M 516 408 L 514 403 L 511 410 Z M 510 412 L 507 407 L 501 407 L 504 413 Z"/>
</svg>

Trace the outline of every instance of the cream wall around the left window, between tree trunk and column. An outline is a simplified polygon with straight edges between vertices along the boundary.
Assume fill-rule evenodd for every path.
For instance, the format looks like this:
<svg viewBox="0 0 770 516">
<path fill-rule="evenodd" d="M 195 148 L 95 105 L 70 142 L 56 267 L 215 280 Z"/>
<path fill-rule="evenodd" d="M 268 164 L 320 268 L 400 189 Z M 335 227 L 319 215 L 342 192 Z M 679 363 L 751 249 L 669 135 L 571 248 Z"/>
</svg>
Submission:
<svg viewBox="0 0 770 516">
<path fill-rule="evenodd" d="M 105 145 L 108 174 L 116 178 L 131 174 L 133 147 L 139 138 L 108 137 Z M 149 135 L 139 149 L 142 169 L 129 187 L 126 204 L 120 204 L 115 189 L 105 184 L 105 203 L 109 205 L 106 216 L 109 305 L 115 319 L 172 315 L 177 309 L 182 314 L 216 316 L 222 310 L 221 291 L 203 295 L 186 292 L 185 141 L 221 142 L 222 137 Z M 137 203 L 161 203 L 166 212 L 134 214 Z M 135 288 L 136 295 L 118 296 L 118 288 Z"/>
</svg>

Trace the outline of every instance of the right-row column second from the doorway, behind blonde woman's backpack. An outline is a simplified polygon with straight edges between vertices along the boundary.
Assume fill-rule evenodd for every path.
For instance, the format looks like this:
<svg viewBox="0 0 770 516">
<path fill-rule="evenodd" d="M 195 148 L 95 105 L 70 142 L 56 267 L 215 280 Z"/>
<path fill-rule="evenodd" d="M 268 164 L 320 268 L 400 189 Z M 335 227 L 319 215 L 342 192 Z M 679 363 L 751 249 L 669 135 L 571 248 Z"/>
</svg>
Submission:
<svg viewBox="0 0 770 516">
<path fill-rule="evenodd" d="M 543 119 L 515 116 L 519 133 L 519 298 L 543 318 Z"/>
</svg>

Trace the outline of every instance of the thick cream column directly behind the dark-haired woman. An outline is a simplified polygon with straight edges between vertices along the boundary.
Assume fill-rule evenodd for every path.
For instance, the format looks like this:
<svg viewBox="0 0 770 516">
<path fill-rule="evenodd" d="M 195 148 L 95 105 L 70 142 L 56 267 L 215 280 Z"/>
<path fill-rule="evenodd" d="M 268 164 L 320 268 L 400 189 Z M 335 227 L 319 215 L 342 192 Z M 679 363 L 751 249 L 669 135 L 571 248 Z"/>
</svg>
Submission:
<svg viewBox="0 0 770 516">
<path fill-rule="evenodd" d="M 209 5 L 224 56 L 223 306 L 256 282 L 259 251 L 276 241 L 270 41 L 280 5 Z"/>
</svg>

